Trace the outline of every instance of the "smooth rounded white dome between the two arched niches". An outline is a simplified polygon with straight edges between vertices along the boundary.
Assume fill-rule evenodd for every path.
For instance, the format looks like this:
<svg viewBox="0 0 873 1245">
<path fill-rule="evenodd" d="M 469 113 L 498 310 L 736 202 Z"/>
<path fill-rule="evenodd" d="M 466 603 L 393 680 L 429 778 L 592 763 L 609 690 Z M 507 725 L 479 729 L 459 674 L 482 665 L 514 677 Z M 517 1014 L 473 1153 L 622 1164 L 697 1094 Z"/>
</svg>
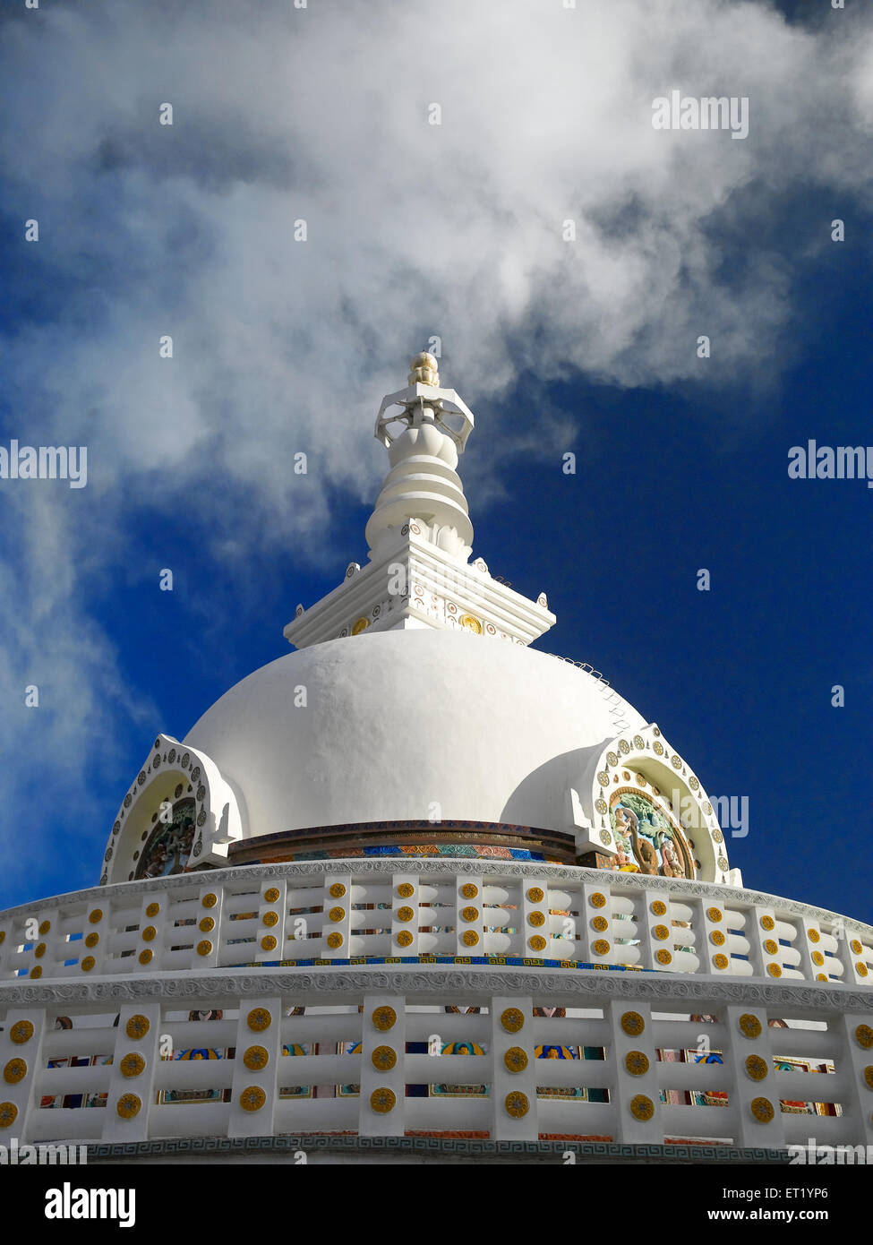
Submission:
<svg viewBox="0 0 873 1245">
<path fill-rule="evenodd" d="M 399 630 L 263 666 L 184 743 L 238 792 L 244 838 L 436 818 L 572 833 L 568 788 L 616 736 L 610 705 L 631 731 L 645 725 L 590 675 L 523 645 Z"/>
</svg>

